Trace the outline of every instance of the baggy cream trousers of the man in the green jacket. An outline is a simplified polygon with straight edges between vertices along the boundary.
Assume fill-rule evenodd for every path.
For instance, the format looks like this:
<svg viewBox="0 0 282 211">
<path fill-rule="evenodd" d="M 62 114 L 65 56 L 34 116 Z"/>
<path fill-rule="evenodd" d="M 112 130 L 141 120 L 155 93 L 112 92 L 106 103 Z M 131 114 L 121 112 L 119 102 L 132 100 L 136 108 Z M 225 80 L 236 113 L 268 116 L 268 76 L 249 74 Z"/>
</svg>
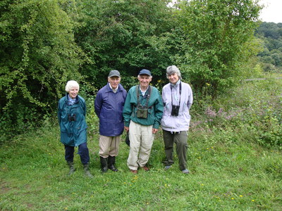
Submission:
<svg viewBox="0 0 282 211">
<path fill-rule="evenodd" d="M 147 164 L 154 141 L 152 129 L 153 125 L 146 126 L 130 121 L 130 152 L 128 155 L 128 167 L 130 170 L 137 170 L 138 165 L 143 167 Z"/>
</svg>

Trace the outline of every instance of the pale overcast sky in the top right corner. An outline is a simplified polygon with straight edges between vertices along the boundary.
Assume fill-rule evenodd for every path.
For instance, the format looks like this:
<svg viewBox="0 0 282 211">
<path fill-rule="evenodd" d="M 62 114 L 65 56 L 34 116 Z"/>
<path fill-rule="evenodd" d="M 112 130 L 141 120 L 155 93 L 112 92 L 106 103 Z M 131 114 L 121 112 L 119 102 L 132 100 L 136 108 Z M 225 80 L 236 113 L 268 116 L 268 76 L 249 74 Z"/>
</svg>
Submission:
<svg viewBox="0 0 282 211">
<path fill-rule="evenodd" d="M 282 0 L 260 0 L 264 8 L 260 13 L 260 19 L 264 22 L 282 23 Z"/>
</svg>

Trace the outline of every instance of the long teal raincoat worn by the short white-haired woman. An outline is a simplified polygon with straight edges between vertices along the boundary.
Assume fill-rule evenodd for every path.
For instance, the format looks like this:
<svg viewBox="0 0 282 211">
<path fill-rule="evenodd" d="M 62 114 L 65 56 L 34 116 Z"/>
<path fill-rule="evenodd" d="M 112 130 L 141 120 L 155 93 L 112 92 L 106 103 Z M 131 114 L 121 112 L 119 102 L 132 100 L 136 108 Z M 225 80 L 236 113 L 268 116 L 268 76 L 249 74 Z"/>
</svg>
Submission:
<svg viewBox="0 0 282 211">
<path fill-rule="evenodd" d="M 61 143 L 66 146 L 79 146 L 87 141 L 85 115 L 85 99 L 81 96 L 76 96 L 72 106 L 68 105 L 68 94 L 59 100 L 58 120 L 61 128 Z"/>
</svg>

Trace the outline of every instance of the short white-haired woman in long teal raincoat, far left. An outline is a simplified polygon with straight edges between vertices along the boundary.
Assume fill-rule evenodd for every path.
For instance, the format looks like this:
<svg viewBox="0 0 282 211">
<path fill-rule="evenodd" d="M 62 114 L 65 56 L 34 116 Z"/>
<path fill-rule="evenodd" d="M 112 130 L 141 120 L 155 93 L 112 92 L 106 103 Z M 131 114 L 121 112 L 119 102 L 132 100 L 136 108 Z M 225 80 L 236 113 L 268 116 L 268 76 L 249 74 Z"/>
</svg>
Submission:
<svg viewBox="0 0 282 211">
<path fill-rule="evenodd" d="M 78 95 L 78 82 L 68 81 L 66 96 L 59 100 L 58 119 L 61 128 L 61 143 L 65 146 L 65 159 L 70 167 L 69 175 L 75 172 L 73 153 L 78 146 L 78 155 L 87 177 L 92 177 L 89 170 L 89 150 L 87 148 L 87 124 L 85 121 L 85 100 Z"/>
</svg>

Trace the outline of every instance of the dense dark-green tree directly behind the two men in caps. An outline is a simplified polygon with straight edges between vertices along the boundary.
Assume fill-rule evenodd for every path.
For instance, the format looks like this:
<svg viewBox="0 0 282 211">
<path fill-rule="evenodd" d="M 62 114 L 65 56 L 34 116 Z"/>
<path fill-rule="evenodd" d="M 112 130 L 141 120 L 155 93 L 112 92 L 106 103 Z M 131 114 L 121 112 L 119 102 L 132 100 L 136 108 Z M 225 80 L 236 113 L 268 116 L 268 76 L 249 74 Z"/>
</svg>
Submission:
<svg viewBox="0 0 282 211">
<path fill-rule="evenodd" d="M 171 8 L 160 0 L 83 0 L 80 27 L 75 32 L 79 46 L 91 63 L 81 68 L 89 82 L 104 86 L 109 70 L 120 70 L 123 85 L 135 84 L 141 68 L 152 70 L 154 82 L 164 78 L 171 64 Z"/>
</svg>

